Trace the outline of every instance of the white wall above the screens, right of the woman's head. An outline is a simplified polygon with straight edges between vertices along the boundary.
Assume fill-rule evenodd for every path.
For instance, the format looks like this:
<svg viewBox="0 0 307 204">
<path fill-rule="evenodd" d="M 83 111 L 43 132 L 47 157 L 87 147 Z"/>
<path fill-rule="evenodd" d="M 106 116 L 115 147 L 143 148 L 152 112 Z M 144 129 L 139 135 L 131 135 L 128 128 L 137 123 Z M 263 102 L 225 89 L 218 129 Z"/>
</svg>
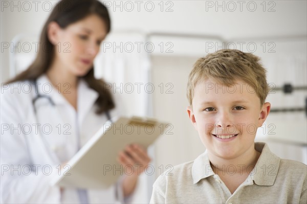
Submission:
<svg viewBox="0 0 307 204">
<path fill-rule="evenodd" d="M 273 4 L 266 4 L 265 12 L 261 5 L 262 1 L 254 1 L 257 7 L 254 12 L 248 10 L 253 10 L 252 1 L 244 1 L 242 12 L 238 1 L 217 1 L 218 5 L 224 3 L 225 11 L 223 7 L 215 7 L 216 1 L 169 1 L 167 5 L 166 2 L 164 1 L 163 12 L 158 5 L 160 1 L 155 1 L 155 10 L 152 12 L 144 9 L 145 1 L 140 6 L 140 12 L 136 12 L 137 8 L 132 12 L 127 12 L 125 9 L 121 12 L 113 3 L 111 9 L 115 10 L 112 12 L 114 29 L 212 34 L 226 39 L 306 34 L 305 1 L 272 1 Z M 229 2 L 234 2 L 236 5 L 233 12 L 231 11 L 233 4 Z M 211 4 L 214 4 L 212 8 Z M 128 6 L 126 4 L 126 7 Z M 166 8 L 170 6 L 173 11 L 166 12 Z M 149 8 L 149 4 L 147 7 Z M 268 12 L 271 7 L 275 11 Z"/>
</svg>

